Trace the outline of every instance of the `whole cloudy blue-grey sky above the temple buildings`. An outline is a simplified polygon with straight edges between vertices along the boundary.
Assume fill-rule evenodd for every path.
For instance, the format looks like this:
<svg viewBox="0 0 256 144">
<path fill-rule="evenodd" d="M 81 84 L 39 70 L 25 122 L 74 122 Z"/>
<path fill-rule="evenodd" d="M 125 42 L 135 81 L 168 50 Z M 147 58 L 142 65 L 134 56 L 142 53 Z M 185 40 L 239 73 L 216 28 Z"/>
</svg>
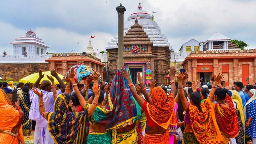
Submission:
<svg viewBox="0 0 256 144">
<path fill-rule="evenodd" d="M 0 53 L 13 54 L 10 42 L 30 29 L 47 52 L 84 52 L 91 35 L 94 50 L 103 51 L 117 35 L 120 2 L 124 22 L 139 2 L 150 15 L 157 12 L 154 21 L 175 51 L 214 32 L 256 48 L 256 0 L 0 0 Z"/>
</svg>

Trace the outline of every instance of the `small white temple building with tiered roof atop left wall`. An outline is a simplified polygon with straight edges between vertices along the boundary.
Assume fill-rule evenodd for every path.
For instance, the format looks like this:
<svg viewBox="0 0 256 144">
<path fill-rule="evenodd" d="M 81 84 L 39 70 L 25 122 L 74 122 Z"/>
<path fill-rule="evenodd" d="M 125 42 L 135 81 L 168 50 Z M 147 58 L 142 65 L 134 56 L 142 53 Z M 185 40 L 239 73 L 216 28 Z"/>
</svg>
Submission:
<svg viewBox="0 0 256 144">
<path fill-rule="evenodd" d="M 32 30 L 10 44 L 13 46 L 13 54 L 0 56 L 0 63 L 47 63 L 45 60 L 52 56 L 46 54 L 49 47 Z"/>
</svg>

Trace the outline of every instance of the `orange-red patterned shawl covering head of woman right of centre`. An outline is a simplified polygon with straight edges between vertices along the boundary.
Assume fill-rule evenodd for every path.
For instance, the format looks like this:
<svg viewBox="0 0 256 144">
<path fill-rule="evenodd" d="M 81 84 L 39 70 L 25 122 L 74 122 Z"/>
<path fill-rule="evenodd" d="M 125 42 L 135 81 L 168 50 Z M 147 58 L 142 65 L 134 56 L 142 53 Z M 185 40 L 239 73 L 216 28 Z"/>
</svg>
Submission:
<svg viewBox="0 0 256 144">
<path fill-rule="evenodd" d="M 151 98 L 153 105 L 147 103 L 150 118 L 164 129 L 167 129 L 169 124 L 173 126 L 177 125 L 177 119 L 174 113 L 174 97 L 169 95 L 167 98 L 164 90 L 157 86 L 153 88 Z"/>
</svg>

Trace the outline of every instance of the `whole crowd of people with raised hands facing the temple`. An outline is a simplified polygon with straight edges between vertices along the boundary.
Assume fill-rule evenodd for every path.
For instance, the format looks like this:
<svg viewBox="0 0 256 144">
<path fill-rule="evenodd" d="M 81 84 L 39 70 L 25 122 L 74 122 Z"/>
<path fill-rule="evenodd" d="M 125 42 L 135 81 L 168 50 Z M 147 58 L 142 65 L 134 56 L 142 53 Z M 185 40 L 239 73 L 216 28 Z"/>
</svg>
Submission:
<svg viewBox="0 0 256 144">
<path fill-rule="evenodd" d="M 170 84 L 152 80 L 148 92 L 137 75 L 133 84 L 122 68 L 102 83 L 95 72 L 78 84 L 72 67 L 63 80 L 51 70 L 41 82 L 39 70 L 34 84 L 0 83 L 0 143 L 23 144 L 35 125 L 34 144 L 256 144 L 255 86 L 234 82 L 228 90 L 222 74 L 206 85 L 188 82 L 187 72 L 175 80 L 171 67 Z"/>
</svg>

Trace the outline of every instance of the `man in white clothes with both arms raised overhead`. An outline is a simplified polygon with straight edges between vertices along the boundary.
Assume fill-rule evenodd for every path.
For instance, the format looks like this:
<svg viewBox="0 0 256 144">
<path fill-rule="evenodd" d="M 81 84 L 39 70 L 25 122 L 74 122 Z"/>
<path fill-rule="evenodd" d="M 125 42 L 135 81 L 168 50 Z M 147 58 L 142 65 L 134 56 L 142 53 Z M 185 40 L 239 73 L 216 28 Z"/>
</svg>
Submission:
<svg viewBox="0 0 256 144">
<path fill-rule="evenodd" d="M 52 86 L 51 82 L 48 80 L 43 80 L 41 83 L 41 92 L 43 94 L 44 99 L 44 106 L 46 112 L 54 112 L 54 101 L 56 99 L 56 96 L 58 94 L 61 94 L 65 90 L 65 84 L 62 82 L 58 74 L 55 70 L 51 70 L 51 75 L 54 76 L 58 82 L 60 83 L 60 89 L 57 90 L 57 94 L 54 95 L 52 91 L 52 88 L 56 88 L 54 85 Z M 37 88 L 40 81 L 44 77 L 44 74 L 42 74 L 42 70 L 39 70 L 39 78 L 36 80 L 34 84 L 34 88 Z M 49 77 L 48 77 L 49 78 Z M 53 80 L 53 79 L 52 79 Z M 51 81 L 52 81 L 51 80 Z M 30 95 L 30 112 L 29 112 L 29 119 L 36 120 L 36 127 L 35 127 L 35 133 L 34 133 L 34 144 L 54 144 L 54 140 L 52 139 L 52 136 L 50 135 L 50 132 L 47 129 L 47 120 L 45 120 L 39 112 L 39 98 L 36 96 L 34 92 L 31 92 Z"/>
</svg>

